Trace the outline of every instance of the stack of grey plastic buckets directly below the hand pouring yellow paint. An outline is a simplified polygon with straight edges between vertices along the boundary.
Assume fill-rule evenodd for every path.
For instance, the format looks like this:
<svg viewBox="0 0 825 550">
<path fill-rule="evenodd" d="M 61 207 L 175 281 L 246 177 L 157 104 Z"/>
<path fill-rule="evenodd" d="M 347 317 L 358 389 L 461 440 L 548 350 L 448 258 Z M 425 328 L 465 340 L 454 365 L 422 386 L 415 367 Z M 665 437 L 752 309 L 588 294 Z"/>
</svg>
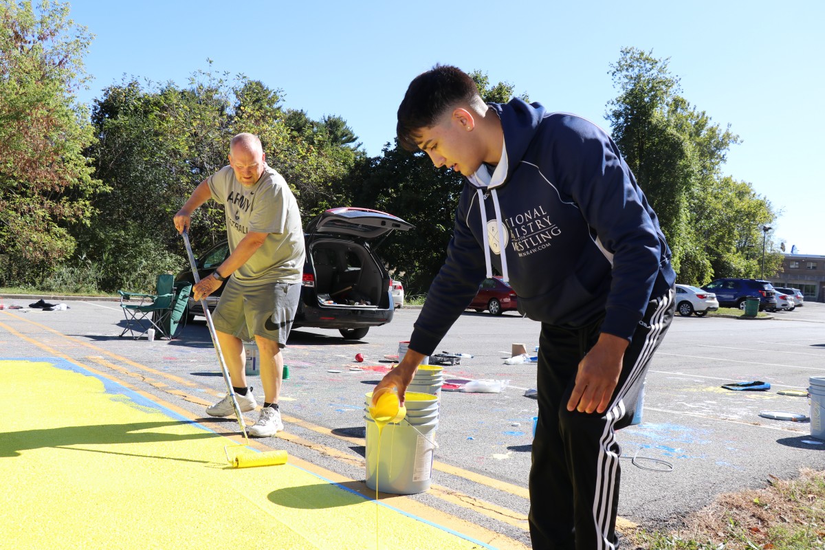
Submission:
<svg viewBox="0 0 825 550">
<path fill-rule="evenodd" d="M 403 421 L 384 426 L 370 416 L 372 393 L 366 394 L 366 486 L 395 495 L 414 495 L 430 488 L 436 449 L 438 399 L 426 393 L 405 393 L 407 415 Z M 380 449 L 380 462 L 379 458 Z"/>
</svg>

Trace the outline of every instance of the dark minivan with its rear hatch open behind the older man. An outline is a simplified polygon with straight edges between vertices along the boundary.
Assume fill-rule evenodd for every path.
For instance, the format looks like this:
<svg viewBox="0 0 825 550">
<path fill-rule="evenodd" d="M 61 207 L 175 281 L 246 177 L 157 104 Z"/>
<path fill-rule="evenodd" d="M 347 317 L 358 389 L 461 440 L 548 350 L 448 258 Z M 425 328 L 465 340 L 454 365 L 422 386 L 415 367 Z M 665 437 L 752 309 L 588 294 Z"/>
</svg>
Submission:
<svg viewBox="0 0 825 550">
<path fill-rule="evenodd" d="M 411 228 L 392 214 L 349 207 L 328 209 L 310 222 L 304 232 L 307 255 L 293 327 L 337 329 L 344 338 L 360 340 L 370 327 L 392 321 L 389 273 L 375 250 L 392 231 Z M 196 261 L 200 278 L 211 275 L 227 256 L 226 241 L 201 255 Z M 193 279 L 191 270 L 182 270 L 175 280 Z M 206 299 L 210 311 L 223 290 L 224 284 Z M 187 316 L 203 313 L 200 303 L 190 298 Z"/>
</svg>

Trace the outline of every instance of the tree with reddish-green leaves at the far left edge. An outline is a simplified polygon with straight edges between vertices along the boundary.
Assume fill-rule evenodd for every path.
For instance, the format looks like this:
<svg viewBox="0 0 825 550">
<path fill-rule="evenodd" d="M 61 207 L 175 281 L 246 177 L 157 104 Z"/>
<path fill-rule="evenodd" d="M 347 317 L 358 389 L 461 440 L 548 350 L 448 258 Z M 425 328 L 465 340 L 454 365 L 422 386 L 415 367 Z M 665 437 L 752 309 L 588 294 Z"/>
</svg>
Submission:
<svg viewBox="0 0 825 550">
<path fill-rule="evenodd" d="M 88 223 L 98 181 L 82 57 L 92 37 L 68 4 L 0 0 L 0 251 L 7 284 L 37 284 L 74 250 L 69 223 Z"/>
</svg>

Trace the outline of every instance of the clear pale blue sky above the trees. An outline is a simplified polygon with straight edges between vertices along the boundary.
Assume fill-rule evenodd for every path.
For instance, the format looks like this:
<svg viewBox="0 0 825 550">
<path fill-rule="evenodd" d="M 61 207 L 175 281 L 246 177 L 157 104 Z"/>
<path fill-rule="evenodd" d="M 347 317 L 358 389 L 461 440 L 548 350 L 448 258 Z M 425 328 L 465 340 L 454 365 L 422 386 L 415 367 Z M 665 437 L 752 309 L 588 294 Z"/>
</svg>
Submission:
<svg viewBox="0 0 825 550">
<path fill-rule="evenodd" d="M 283 89 L 285 106 L 312 118 L 342 116 L 370 155 L 393 139 L 409 81 L 435 63 L 480 69 L 609 129 L 610 63 L 624 46 L 652 49 L 671 59 L 682 95 L 742 139 L 724 172 L 780 212 L 777 246 L 825 255 L 822 0 L 70 3 L 96 35 L 82 101 L 123 75 L 185 85 L 209 58 Z"/>
</svg>

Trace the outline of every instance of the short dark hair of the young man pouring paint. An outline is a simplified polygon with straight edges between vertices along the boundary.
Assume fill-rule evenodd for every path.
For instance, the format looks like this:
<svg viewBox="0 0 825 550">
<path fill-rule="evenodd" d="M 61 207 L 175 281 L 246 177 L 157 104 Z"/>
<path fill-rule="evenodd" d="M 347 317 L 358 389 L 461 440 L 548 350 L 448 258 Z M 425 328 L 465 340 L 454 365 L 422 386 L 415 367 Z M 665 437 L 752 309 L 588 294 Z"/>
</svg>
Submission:
<svg viewBox="0 0 825 550">
<path fill-rule="evenodd" d="M 469 103 L 475 96 L 479 96 L 479 87 L 460 68 L 436 65 L 419 74 L 398 106 L 398 143 L 408 151 L 417 151 L 419 130 L 435 125 L 448 109 L 461 101 Z"/>
</svg>

